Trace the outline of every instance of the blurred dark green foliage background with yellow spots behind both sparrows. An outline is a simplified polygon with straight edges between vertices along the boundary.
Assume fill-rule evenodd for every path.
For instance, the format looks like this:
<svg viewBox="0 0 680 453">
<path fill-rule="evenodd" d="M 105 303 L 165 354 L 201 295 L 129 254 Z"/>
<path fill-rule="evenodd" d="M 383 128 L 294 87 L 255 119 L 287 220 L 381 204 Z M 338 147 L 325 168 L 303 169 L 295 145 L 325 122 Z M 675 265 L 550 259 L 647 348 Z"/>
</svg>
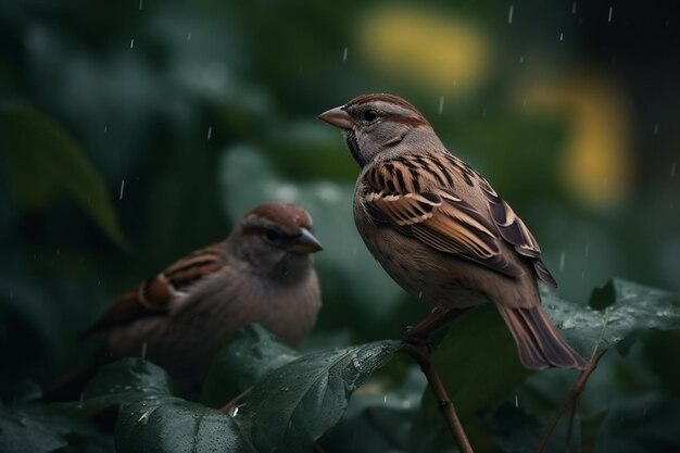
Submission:
<svg viewBox="0 0 680 453">
<path fill-rule="evenodd" d="M 93 345 L 79 335 L 117 294 L 272 199 L 307 209 L 325 246 L 324 307 L 305 351 L 400 338 L 428 307 L 365 250 L 351 218 L 357 168 L 315 119 L 370 91 L 411 100 L 488 177 L 538 237 L 564 299 L 584 305 L 612 276 L 679 291 L 679 20 L 668 1 L 1 2 L 3 403 L 83 363 Z M 463 348 L 444 345 L 454 344 Z M 668 445 L 660 431 L 679 420 L 675 344 L 676 332 L 645 334 L 625 357 L 605 356 L 581 438 L 621 436 L 638 450 L 590 451 Z M 483 373 L 484 357 L 467 354 Z M 329 439 L 427 451 L 431 427 L 410 441 L 385 435 L 418 414 L 406 395 L 424 383 L 407 379 L 411 368 L 399 358 L 381 368 Z M 520 451 L 506 421 L 524 414 L 532 436 L 567 388 L 546 372 L 499 395 L 513 406 L 518 394 L 519 407 L 495 414 L 495 435 L 498 401 L 487 407 L 487 425 L 469 428 L 479 451 Z M 362 405 L 383 398 L 385 407 Z M 65 432 L 74 445 L 111 446 L 111 432 L 80 421 L 2 411 L 2 420 L 30 419 L 20 431 L 42 433 L 36 451 L 61 448 Z"/>
</svg>

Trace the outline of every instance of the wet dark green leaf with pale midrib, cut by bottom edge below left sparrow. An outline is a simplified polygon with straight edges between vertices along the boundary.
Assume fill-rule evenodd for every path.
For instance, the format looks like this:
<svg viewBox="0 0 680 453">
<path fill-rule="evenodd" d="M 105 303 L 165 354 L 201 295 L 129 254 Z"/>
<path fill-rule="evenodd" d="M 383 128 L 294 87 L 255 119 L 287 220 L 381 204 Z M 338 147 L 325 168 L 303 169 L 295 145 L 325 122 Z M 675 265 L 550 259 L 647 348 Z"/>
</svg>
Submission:
<svg viewBox="0 0 680 453">
<path fill-rule="evenodd" d="M 116 451 L 129 453 L 253 451 L 232 417 L 174 397 L 121 406 L 115 439 Z"/>
</svg>

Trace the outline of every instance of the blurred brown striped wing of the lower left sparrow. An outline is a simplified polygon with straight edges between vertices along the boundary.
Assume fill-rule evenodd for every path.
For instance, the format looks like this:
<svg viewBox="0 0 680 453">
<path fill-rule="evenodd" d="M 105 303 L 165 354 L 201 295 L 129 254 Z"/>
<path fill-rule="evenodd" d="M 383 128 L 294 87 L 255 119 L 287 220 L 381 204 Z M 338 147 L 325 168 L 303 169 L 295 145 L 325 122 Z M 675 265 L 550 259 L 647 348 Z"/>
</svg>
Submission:
<svg viewBox="0 0 680 453">
<path fill-rule="evenodd" d="M 134 322 L 162 314 L 172 302 L 206 276 L 225 268 L 223 243 L 197 250 L 169 265 L 155 277 L 140 282 L 123 294 L 102 316 L 97 327 Z M 96 327 L 96 328 L 97 328 Z"/>
</svg>

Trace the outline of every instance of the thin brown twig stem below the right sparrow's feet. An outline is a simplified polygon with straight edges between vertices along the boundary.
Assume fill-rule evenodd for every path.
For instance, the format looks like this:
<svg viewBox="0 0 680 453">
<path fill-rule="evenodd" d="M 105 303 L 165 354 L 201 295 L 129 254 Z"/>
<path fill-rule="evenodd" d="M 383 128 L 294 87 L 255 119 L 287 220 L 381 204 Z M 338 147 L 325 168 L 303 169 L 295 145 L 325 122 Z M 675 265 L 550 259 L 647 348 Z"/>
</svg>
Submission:
<svg viewBox="0 0 680 453">
<path fill-rule="evenodd" d="M 439 378 L 439 374 L 437 374 L 437 370 L 432 366 L 428 345 L 421 342 L 408 342 L 408 340 L 410 337 L 406 337 L 406 340 L 404 340 L 404 343 L 402 344 L 402 350 L 415 358 L 418 365 L 420 365 L 420 369 L 423 369 L 423 373 L 427 377 L 427 381 L 429 382 L 430 388 L 439 402 L 439 410 L 442 413 L 446 425 L 449 425 L 449 429 L 458 445 L 458 450 L 461 453 L 475 453 L 473 445 L 470 445 L 470 442 L 465 435 L 463 425 L 461 425 L 455 407 L 449 399 L 446 389 Z"/>
</svg>

